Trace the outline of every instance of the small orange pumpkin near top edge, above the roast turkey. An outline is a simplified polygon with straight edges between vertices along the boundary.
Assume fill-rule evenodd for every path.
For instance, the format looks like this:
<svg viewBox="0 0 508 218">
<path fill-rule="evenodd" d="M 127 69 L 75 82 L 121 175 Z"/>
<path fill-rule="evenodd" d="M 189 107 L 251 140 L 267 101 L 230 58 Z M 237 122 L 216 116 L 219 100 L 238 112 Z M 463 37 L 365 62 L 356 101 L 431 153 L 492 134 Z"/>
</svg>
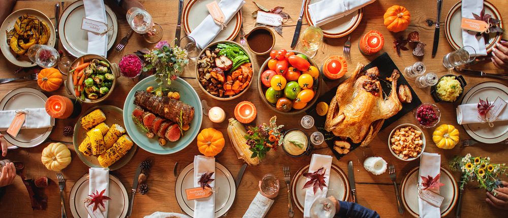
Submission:
<svg viewBox="0 0 508 218">
<path fill-rule="evenodd" d="M 404 6 L 394 5 L 388 8 L 383 19 L 388 30 L 398 33 L 409 26 L 411 15 Z"/>
</svg>

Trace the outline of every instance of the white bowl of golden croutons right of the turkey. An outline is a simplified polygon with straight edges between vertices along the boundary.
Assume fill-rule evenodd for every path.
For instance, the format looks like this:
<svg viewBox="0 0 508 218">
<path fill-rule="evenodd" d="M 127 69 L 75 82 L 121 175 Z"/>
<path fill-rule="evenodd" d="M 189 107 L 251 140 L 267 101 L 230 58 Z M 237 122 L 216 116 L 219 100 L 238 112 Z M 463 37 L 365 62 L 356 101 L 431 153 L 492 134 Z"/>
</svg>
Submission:
<svg viewBox="0 0 508 218">
<path fill-rule="evenodd" d="M 414 161 L 425 150 L 425 134 L 414 124 L 400 124 L 390 133 L 388 148 L 397 159 Z"/>
</svg>

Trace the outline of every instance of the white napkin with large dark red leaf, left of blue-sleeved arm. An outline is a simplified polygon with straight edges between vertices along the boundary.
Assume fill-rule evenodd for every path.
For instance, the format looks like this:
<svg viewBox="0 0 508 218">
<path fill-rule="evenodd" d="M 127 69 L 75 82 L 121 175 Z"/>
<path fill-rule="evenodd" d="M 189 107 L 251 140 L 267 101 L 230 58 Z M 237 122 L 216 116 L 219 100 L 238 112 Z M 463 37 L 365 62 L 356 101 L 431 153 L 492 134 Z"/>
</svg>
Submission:
<svg viewBox="0 0 508 218">
<path fill-rule="evenodd" d="M 328 186 L 328 180 L 330 179 L 330 168 L 332 167 L 332 156 L 330 155 L 322 155 L 322 154 L 312 154 L 312 159 L 310 160 L 309 173 L 313 173 L 320 168 L 325 168 L 325 182 Z M 306 181 L 309 181 L 307 178 Z M 297 189 L 301 189 L 301 187 L 297 187 Z M 326 193 L 328 192 L 328 187 L 323 187 L 323 190 L 317 189 L 316 194 L 314 194 L 314 190 L 312 187 L 307 188 L 305 191 L 305 204 L 303 210 L 303 217 L 310 217 L 310 207 L 312 203 L 314 203 L 315 199 L 325 198 Z"/>
</svg>

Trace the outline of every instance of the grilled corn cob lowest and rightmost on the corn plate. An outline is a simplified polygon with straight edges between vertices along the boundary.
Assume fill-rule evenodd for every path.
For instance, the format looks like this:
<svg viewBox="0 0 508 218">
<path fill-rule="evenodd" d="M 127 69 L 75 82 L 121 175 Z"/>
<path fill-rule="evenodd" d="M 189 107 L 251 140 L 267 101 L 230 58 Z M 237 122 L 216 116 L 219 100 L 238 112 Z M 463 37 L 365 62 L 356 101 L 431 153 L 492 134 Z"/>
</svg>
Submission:
<svg viewBox="0 0 508 218">
<path fill-rule="evenodd" d="M 102 167 L 109 167 L 116 161 L 120 160 L 134 145 L 134 142 L 128 135 L 121 136 L 111 148 L 101 154 L 99 158 L 99 164 Z"/>
</svg>

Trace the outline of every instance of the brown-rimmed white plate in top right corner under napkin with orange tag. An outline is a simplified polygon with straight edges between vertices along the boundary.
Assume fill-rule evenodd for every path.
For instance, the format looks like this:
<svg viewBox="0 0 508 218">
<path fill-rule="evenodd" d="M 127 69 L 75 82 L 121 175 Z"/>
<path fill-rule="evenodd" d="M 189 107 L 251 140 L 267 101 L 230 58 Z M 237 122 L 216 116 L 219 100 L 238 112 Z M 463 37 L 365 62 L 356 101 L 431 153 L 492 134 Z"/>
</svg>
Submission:
<svg viewBox="0 0 508 218">
<path fill-rule="evenodd" d="M 499 13 L 499 10 L 497 10 L 497 8 L 492 5 L 492 3 L 486 0 L 483 1 L 483 5 L 485 14 L 490 14 L 493 18 L 501 20 L 500 27 L 503 28 L 503 19 L 501 17 L 501 13 Z M 452 7 L 452 9 L 450 9 L 450 12 L 448 12 L 448 15 L 446 16 L 446 20 L 444 21 L 444 35 L 454 49 L 463 47 L 462 29 L 460 28 L 460 23 L 462 21 L 461 7 L 462 1 L 459 1 Z M 486 45 L 487 53 L 492 50 L 492 46 L 494 46 L 496 42 L 501 40 L 501 37 L 501 34 L 498 36 L 496 36 L 495 33 L 490 34 L 489 43 Z"/>
</svg>

